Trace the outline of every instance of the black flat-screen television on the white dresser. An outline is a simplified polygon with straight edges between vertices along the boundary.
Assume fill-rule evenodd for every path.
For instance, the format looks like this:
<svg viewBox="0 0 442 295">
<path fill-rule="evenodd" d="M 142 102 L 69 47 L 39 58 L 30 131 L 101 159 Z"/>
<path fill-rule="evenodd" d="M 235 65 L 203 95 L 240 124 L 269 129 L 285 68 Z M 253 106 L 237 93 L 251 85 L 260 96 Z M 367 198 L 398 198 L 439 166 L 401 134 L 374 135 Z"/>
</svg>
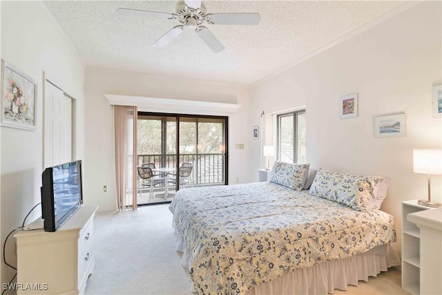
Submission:
<svg viewBox="0 0 442 295">
<path fill-rule="evenodd" d="M 41 174 L 41 218 L 57 231 L 83 204 L 81 160 L 46 168 Z"/>
</svg>

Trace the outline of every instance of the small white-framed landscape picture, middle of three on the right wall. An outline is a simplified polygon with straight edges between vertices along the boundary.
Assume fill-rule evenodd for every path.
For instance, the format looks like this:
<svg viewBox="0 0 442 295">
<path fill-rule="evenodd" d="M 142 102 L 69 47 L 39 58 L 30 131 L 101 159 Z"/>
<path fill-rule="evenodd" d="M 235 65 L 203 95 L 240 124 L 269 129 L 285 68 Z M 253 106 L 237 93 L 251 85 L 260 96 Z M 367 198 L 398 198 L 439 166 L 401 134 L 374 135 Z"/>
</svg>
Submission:
<svg viewBox="0 0 442 295">
<path fill-rule="evenodd" d="M 405 113 L 378 115 L 374 117 L 374 136 L 403 137 L 405 126 Z"/>
</svg>

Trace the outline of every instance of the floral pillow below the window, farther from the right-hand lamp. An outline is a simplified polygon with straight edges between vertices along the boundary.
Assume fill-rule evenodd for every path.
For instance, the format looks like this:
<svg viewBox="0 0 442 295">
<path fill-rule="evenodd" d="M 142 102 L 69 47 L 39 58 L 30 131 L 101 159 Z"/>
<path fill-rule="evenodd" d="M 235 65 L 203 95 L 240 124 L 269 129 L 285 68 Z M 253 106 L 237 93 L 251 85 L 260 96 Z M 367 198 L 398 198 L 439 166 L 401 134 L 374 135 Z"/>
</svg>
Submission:
<svg viewBox="0 0 442 295">
<path fill-rule="evenodd" d="M 310 164 L 275 161 L 273 169 L 271 169 L 270 182 L 300 191 L 307 180 L 309 166 Z"/>
</svg>

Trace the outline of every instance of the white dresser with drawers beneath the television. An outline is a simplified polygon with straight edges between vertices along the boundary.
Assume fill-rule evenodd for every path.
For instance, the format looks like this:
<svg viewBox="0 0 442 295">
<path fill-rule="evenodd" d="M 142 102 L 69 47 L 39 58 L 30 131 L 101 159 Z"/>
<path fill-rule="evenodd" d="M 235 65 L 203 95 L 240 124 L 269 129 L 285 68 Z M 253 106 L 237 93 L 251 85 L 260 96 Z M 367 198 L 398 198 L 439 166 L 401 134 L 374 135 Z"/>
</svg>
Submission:
<svg viewBox="0 0 442 295">
<path fill-rule="evenodd" d="M 94 268 L 97 208 L 81 207 L 55 232 L 37 229 L 15 234 L 17 294 L 84 294 Z"/>
</svg>

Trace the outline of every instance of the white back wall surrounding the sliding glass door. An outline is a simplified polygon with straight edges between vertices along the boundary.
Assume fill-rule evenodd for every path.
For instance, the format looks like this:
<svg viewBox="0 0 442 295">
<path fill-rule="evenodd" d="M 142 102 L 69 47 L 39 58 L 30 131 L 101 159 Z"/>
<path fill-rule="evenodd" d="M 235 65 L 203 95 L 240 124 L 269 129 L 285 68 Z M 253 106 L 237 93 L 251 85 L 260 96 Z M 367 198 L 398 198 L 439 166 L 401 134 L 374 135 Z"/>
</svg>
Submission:
<svg viewBox="0 0 442 295">
<path fill-rule="evenodd" d="M 113 112 L 104 94 L 240 104 L 238 113 L 229 116 L 229 183 L 234 183 L 237 176 L 239 182 L 247 182 L 247 138 L 251 137 L 244 124 L 249 116 L 247 87 L 88 67 L 84 189 L 88 202 L 99 205 L 99 211 L 117 209 Z M 234 149 L 236 143 L 244 143 L 244 149 Z M 108 186 L 107 193 L 104 185 Z"/>
</svg>

